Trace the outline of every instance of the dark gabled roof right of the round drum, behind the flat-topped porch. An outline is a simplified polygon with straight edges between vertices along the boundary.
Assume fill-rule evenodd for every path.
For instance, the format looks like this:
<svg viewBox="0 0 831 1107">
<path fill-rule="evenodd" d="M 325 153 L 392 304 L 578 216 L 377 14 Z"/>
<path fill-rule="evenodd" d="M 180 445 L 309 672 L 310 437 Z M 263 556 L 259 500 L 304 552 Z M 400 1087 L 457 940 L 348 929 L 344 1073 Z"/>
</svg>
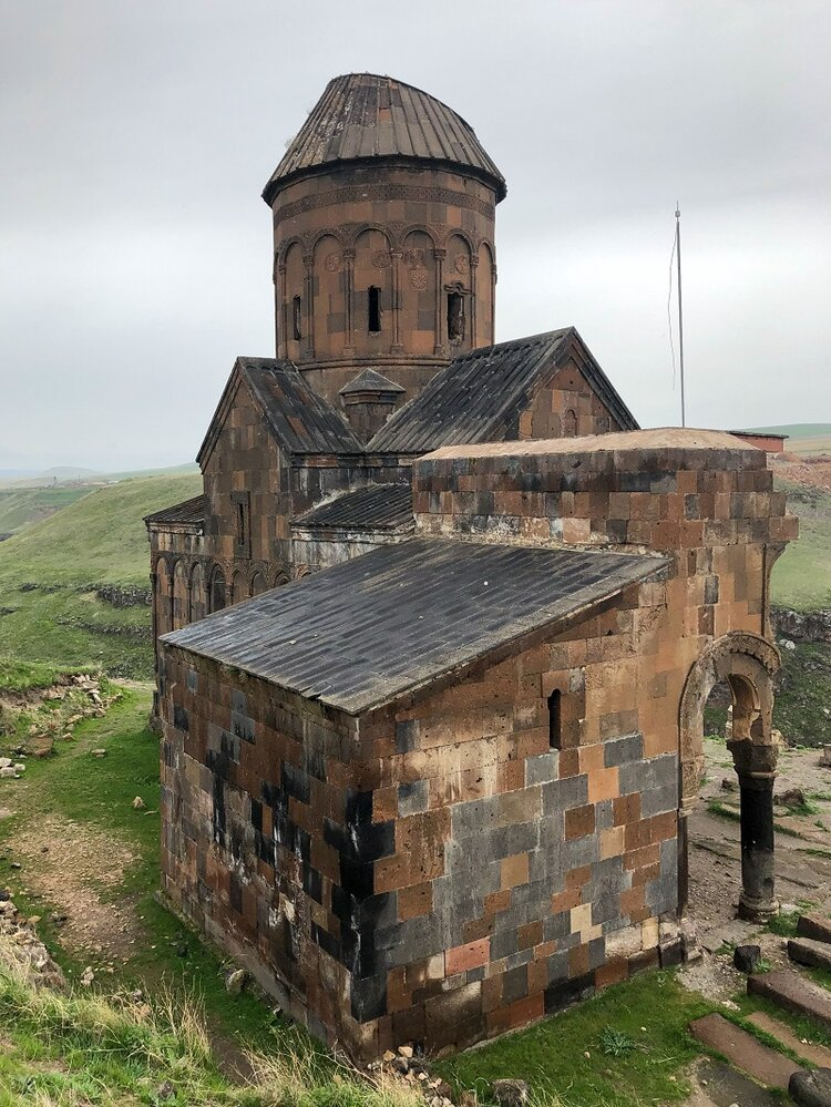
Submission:
<svg viewBox="0 0 831 1107">
<path fill-rule="evenodd" d="M 399 408 L 367 447 L 376 453 L 427 453 L 442 445 L 499 441 L 537 389 L 578 348 L 579 369 L 624 430 L 634 416 L 574 327 L 485 346 L 455 358 L 409 403 Z"/>
</svg>

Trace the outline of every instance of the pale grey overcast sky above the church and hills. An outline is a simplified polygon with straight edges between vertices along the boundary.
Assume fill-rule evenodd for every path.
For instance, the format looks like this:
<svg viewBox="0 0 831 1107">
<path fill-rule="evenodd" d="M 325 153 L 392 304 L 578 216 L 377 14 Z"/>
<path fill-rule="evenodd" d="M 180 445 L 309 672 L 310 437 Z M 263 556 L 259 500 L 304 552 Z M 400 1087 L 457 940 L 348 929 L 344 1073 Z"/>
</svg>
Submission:
<svg viewBox="0 0 831 1107">
<path fill-rule="evenodd" d="M 507 178 L 497 340 L 574 325 L 643 426 L 831 421 L 829 0 L 0 0 L 0 469 L 194 458 L 274 353 L 263 186 L 389 73 Z"/>
</svg>

